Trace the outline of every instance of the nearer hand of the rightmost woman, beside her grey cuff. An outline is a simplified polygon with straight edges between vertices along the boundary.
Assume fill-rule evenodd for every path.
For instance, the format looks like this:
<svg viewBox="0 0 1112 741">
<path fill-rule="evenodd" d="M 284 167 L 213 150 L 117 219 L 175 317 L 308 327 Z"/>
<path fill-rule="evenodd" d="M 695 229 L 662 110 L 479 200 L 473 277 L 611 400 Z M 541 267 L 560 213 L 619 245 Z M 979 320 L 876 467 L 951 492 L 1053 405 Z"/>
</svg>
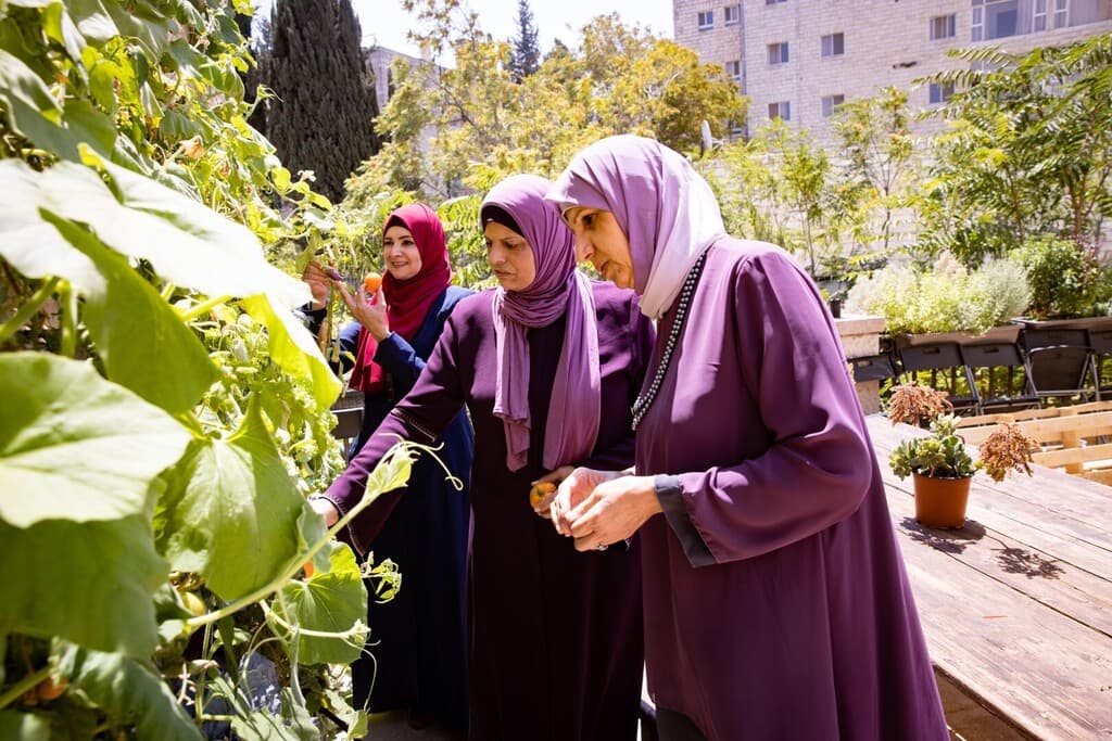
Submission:
<svg viewBox="0 0 1112 741">
<path fill-rule="evenodd" d="M 651 475 L 623 475 L 599 482 L 589 494 L 562 513 L 567 534 L 579 551 L 603 550 L 632 538 L 651 517 L 661 512 Z"/>
</svg>

